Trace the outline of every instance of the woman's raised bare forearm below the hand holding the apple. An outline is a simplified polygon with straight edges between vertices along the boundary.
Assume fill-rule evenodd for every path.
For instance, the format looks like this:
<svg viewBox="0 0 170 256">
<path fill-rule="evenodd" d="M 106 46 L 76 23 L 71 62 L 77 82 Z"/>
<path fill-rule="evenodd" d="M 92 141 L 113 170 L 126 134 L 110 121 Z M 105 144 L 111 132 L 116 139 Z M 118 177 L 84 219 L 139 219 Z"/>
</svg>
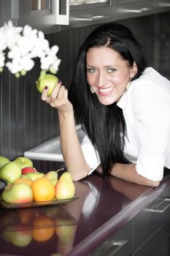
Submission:
<svg viewBox="0 0 170 256">
<path fill-rule="evenodd" d="M 88 175 L 90 167 L 85 162 L 82 154 L 80 141 L 77 137 L 76 126 L 74 122 L 74 112 L 58 112 L 61 133 L 61 151 L 66 168 L 72 173 L 74 181 L 85 178 Z"/>
</svg>

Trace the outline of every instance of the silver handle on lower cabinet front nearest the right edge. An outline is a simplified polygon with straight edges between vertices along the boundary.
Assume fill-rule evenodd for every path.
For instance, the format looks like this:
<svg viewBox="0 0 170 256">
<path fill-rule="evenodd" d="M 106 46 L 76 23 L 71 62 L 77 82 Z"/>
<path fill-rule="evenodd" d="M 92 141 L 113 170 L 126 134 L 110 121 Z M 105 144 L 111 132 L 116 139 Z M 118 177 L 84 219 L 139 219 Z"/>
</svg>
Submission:
<svg viewBox="0 0 170 256">
<path fill-rule="evenodd" d="M 170 206 L 170 197 L 158 197 L 158 199 L 154 200 L 150 203 L 144 211 L 157 212 L 163 214 L 167 208 Z"/>
</svg>

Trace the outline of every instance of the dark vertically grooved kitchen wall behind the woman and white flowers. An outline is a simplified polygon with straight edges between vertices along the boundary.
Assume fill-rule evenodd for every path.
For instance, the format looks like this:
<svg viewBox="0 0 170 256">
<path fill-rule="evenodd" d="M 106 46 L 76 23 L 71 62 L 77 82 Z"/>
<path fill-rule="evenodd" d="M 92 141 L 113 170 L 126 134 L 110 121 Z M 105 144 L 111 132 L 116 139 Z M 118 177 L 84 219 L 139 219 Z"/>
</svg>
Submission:
<svg viewBox="0 0 170 256">
<path fill-rule="evenodd" d="M 119 20 L 134 31 L 145 46 L 149 64 L 170 79 L 170 13 Z M 69 85 L 77 49 L 96 26 L 48 34 L 50 45 L 58 45 L 62 60 L 58 78 Z M 36 65 L 26 77 L 17 79 L 4 70 L 0 75 L 0 154 L 14 159 L 28 148 L 59 134 L 58 113 L 40 99 L 35 81 Z"/>
</svg>

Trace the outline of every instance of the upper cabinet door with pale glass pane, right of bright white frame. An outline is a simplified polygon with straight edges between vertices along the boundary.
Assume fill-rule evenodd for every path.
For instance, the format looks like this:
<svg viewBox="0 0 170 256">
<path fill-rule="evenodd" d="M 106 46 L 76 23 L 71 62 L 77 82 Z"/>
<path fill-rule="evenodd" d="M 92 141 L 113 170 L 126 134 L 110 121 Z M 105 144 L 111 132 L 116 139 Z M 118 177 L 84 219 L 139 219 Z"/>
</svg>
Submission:
<svg viewBox="0 0 170 256">
<path fill-rule="evenodd" d="M 70 0 L 69 26 L 61 30 L 115 20 L 115 0 Z"/>
</svg>

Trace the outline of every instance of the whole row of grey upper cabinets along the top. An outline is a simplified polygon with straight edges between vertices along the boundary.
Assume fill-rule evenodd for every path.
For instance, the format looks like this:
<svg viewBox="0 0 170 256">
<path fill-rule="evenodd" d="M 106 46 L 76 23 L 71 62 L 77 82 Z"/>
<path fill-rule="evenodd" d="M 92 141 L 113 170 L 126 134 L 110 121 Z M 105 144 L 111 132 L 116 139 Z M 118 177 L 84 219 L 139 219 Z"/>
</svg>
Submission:
<svg viewBox="0 0 170 256">
<path fill-rule="evenodd" d="M 51 34 L 169 10 L 169 0 L 0 0 L 0 25 L 12 20 Z"/>
</svg>

